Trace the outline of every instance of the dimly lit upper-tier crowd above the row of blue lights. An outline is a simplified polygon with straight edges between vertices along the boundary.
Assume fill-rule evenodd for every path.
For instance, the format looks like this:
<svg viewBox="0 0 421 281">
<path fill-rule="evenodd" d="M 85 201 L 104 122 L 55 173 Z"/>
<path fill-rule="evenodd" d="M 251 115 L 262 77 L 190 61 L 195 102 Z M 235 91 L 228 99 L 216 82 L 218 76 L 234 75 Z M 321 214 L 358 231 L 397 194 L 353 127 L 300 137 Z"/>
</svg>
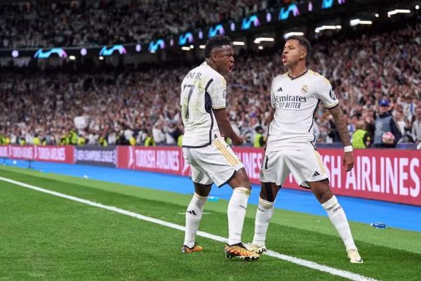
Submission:
<svg viewBox="0 0 421 281">
<path fill-rule="evenodd" d="M 145 43 L 288 4 L 288 0 L 72 0 L 0 4 L 0 48 Z M 296 1 L 295 1 L 296 2 Z"/>
</svg>

